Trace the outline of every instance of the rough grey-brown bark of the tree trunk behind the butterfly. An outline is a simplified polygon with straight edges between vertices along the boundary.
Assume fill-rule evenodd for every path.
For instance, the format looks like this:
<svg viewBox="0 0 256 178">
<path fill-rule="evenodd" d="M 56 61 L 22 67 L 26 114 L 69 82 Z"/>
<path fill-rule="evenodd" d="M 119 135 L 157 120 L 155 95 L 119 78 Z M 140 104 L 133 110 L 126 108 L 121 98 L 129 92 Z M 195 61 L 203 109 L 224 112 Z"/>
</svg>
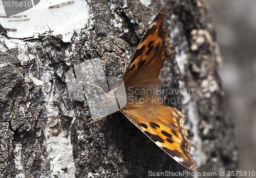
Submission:
<svg viewBox="0 0 256 178">
<path fill-rule="evenodd" d="M 187 170 L 118 112 L 108 117 L 91 146 L 101 123 L 86 126 L 92 121 L 90 113 L 79 109 L 85 104 L 69 98 L 65 83 L 70 67 L 97 57 L 106 76 L 121 77 L 124 61 L 129 63 L 162 6 L 170 8 L 165 27 L 176 54 L 166 61 L 160 77 L 169 91 L 193 89 L 193 93 L 168 97 L 186 99 L 171 105 L 187 116 L 185 126 L 193 143 L 190 153 L 198 172 L 216 172 L 221 177 L 220 171 L 234 170 L 236 139 L 223 106 L 222 58 L 205 1 L 154 0 L 148 7 L 130 0 L 91 1 L 89 5 L 91 24 L 79 35 L 74 33 L 70 43 L 46 34 L 27 40 L 26 53 L 34 58 L 22 63 L 17 59 L 19 50 L 1 52 L 1 177 L 68 177 L 72 164 L 75 177 L 148 177 L 148 171 Z M 8 38 L 5 31 L 1 28 L 2 37 Z M 72 55 L 67 57 L 67 51 Z M 63 145 L 62 138 L 66 139 Z M 63 152 L 53 154 L 55 143 Z M 73 150 L 71 155 L 65 152 L 67 145 Z M 69 160 L 56 171 L 59 174 L 53 174 L 57 154 L 60 162 Z"/>
</svg>

